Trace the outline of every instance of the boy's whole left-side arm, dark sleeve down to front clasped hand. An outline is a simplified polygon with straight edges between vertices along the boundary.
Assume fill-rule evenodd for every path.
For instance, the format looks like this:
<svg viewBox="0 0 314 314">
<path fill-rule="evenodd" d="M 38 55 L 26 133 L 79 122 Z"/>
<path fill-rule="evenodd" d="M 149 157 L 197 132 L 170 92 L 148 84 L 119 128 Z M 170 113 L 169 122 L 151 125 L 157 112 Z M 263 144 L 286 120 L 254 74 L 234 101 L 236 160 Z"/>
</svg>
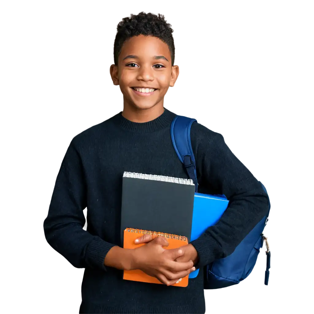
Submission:
<svg viewBox="0 0 314 314">
<path fill-rule="evenodd" d="M 108 243 L 84 230 L 86 190 L 81 160 L 70 142 L 57 174 L 47 215 L 42 220 L 42 230 L 48 246 L 72 267 L 141 269 L 167 285 L 175 284 L 195 270 L 192 262 L 175 262 L 183 252 L 165 250 L 165 243 L 160 243 L 166 241 L 163 237 L 133 250 Z"/>
</svg>

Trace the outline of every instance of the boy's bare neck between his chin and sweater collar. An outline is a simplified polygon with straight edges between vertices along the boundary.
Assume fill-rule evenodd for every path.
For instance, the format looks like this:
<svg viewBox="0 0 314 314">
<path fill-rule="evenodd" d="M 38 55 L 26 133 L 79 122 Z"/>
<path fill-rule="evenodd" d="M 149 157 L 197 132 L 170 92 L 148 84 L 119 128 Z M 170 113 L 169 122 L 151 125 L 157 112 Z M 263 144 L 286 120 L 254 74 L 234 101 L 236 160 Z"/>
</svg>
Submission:
<svg viewBox="0 0 314 314">
<path fill-rule="evenodd" d="M 122 106 L 122 116 L 129 121 L 144 123 L 157 119 L 165 111 L 163 105 L 156 105 L 149 109 L 137 109 L 129 105 Z"/>
</svg>

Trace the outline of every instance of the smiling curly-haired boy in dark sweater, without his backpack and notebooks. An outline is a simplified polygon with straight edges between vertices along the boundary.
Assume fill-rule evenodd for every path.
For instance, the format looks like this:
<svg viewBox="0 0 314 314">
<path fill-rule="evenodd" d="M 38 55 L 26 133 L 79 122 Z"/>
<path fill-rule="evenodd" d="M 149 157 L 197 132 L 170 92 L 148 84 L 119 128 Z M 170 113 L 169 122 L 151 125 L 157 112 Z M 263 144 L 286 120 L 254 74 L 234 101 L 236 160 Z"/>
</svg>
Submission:
<svg viewBox="0 0 314 314">
<path fill-rule="evenodd" d="M 161 17 L 138 14 L 119 23 L 110 76 L 122 111 L 70 140 L 43 219 L 47 244 L 84 269 L 80 313 L 203 313 L 203 267 L 231 254 L 268 211 L 262 186 L 224 138 L 194 123 L 199 191 L 225 194 L 225 214 L 181 249 L 165 250 L 164 238 L 120 247 L 123 172 L 188 178 L 171 142 L 174 113 L 163 104 L 177 75 L 171 28 Z M 172 286 L 195 267 L 200 273 L 186 288 Z M 123 269 L 141 269 L 163 285 L 123 280 Z"/>
</svg>

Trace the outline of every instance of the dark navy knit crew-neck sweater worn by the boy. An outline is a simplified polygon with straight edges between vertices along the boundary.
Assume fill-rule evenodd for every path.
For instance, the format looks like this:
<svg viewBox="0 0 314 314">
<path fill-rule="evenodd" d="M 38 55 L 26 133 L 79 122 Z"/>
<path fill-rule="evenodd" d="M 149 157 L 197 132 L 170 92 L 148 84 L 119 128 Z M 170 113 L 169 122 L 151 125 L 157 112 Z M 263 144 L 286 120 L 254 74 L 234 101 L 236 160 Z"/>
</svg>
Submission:
<svg viewBox="0 0 314 314">
<path fill-rule="evenodd" d="M 225 194 L 230 201 L 219 222 L 192 242 L 198 277 L 186 288 L 167 287 L 123 280 L 122 271 L 105 267 L 107 252 L 120 245 L 123 172 L 188 178 L 171 142 L 173 117 L 165 109 L 153 121 L 136 123 L 118 111 L 79 131 L 65 149 L 43 232 L 62 259 L 84 269 L 81 313 L 203 313 L 203 266 L 231 254 L 268 211 L 261 184 L 224 137 L 193 123 L 199 192 Z"/>
</svg>

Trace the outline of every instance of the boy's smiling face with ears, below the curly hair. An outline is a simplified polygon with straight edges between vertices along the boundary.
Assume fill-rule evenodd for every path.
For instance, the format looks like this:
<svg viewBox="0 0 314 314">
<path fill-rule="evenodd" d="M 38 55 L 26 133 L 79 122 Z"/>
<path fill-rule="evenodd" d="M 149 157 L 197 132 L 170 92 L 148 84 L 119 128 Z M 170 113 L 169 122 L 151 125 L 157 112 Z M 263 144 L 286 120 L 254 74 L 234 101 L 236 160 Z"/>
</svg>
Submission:
<svg viewBox="0 0 314 314">
<path fill-rule="evenodd" d="M 138 109 L 163 106 L 163 98 L 178 74 L 171 66 L 167 44 L 153 36 L 139 35 L 125 41 L 118 66 L 110 65 L 111 81 L 118 86 L 123 105 Z"/>
</svg>

